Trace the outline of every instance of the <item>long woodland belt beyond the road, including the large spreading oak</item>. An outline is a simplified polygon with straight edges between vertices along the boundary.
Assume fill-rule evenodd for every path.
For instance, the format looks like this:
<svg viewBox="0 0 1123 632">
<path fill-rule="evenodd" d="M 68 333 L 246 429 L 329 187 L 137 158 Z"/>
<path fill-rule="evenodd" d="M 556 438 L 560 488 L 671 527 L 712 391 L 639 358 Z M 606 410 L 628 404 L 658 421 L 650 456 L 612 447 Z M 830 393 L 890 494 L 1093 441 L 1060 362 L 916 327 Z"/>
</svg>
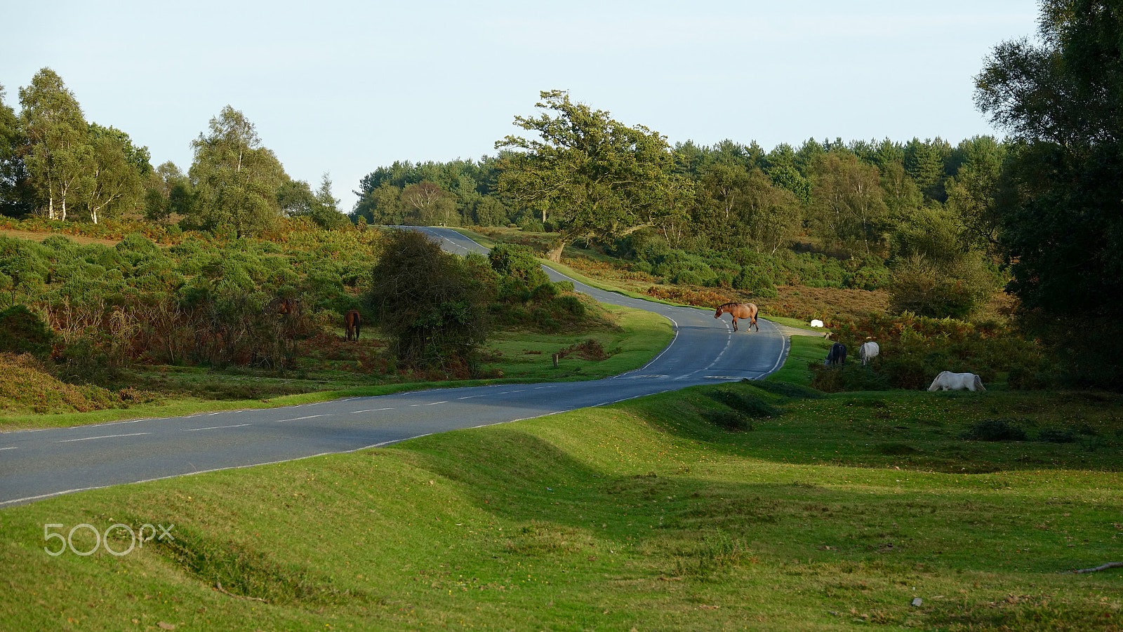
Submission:
<svg viewBox="0 0 1123 632">
<path fill-rule="evenodd" d="M 579 241 L 668 283 L 763 295 L 825 265 L 838 285 L 892 281 L 902 309 L 929 315 L 967 315 L 1001 285 L 994 207 L 1006 141 L 670 146 L 564 91 L 542 92 L 537 108 L 514 119 L 532 136 L 501 139 L 496 156 L 377 168 L 351 219 L 549 231 L 553 260 Z"/>
</svg>

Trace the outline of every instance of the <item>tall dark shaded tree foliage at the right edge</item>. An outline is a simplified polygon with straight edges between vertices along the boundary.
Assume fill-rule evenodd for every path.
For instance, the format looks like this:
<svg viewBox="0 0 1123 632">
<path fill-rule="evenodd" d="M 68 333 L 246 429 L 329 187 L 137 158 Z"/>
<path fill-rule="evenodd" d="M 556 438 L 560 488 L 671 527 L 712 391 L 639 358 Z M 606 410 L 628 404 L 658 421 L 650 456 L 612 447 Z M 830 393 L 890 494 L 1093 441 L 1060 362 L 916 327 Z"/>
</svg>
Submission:
<svg viewBox="0 0 1123 632">
<path fill-rule="evenodd" d="M 1016 140 L 995 202 L 1023 322 L 1068 379 L 1108 388 L 1123 370 L 1121 36 L 1112 2 L 1046 0 L 1040 39 L 996 46 L 975 92 Z"/>
</svg>

